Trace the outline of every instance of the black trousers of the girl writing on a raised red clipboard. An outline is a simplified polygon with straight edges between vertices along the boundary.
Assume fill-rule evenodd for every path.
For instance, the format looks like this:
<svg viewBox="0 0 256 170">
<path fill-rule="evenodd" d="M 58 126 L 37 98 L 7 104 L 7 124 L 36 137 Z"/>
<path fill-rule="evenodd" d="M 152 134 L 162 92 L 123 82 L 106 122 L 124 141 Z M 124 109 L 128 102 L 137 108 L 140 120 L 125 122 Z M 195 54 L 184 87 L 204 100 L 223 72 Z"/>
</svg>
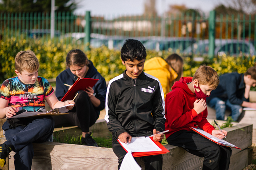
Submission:
<svg viewBox="0 0 256 170">
<path fill-rule="evenodd" d="M 85 91 L 80 90 L 74 101 L 75 107 L 69 114 L 53 117 L 54 128 L 78 126 L 82 132 L 89 132 L 89 127 L 95 123 L 99 115 L 95 112 L 90 97 Z"/>
</svg>

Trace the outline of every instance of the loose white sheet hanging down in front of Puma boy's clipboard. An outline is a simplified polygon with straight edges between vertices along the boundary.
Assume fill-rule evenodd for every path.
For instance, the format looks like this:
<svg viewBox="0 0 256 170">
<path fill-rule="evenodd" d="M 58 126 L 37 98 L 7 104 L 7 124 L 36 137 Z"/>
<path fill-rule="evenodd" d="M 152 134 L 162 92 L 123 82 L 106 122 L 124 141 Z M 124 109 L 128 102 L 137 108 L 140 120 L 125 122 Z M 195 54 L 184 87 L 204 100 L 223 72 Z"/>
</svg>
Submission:
<svg viewBox="0 0 256 170">
<path fill-rule="evenodd" d="M 120 170 L 141 170 L 138 163 L 135 161 L 134 157 L 132 156 L 131 152 L 126 153 Z"/>
</svg>

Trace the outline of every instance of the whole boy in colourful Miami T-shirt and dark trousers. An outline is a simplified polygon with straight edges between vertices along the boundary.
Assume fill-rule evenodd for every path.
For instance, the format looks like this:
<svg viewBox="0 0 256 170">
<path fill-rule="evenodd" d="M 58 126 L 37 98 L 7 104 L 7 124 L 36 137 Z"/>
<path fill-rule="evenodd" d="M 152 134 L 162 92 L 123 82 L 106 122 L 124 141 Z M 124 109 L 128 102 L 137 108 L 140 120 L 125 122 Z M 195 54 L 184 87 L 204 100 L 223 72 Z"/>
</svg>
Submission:
<svg viewBox="0 0 256 170">
<path fill-rule="evenodd" d="M 16 153 L 15 169 L 30 170 L 34 156 L 32 143 L 49 141 L 54 130 L 51 116 L 11 118 L 12 116 L 26 110 L 43 112 L 45 100 L 52 109 L 75 104 L 71 100 L 59 101 L 49 82 L 38 77 L 38 68 L 39 62 L 33 51 L 18 52 L 15 57 L 17 76 L 5 80 L 0 88 L 0 118 L 8 118 L 2 126 L 6 142 L 0 145 L 1 167 L 6 164 L 6 158 L 13 150 Z M 73 107 L 74 105 L 66 108 L 71 110 Z"/>
</svg>

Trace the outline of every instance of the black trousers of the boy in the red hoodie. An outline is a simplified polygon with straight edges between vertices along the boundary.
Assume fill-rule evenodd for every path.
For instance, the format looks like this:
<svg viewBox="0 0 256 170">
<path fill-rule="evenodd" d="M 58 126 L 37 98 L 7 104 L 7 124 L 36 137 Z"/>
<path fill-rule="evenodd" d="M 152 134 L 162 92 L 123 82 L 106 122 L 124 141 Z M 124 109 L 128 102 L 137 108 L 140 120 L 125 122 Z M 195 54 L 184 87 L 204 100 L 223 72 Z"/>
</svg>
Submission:
<svg viewBox="0 0 256 170">
<path fill-rule="evenodd" d="M 220 146 L 194 131 L 187 130 L 177 131 L 166 140 L 168 144 L 204 157 L 203 170 L 228 170 L 231 156 L 229 147 Z"/>
</svg>

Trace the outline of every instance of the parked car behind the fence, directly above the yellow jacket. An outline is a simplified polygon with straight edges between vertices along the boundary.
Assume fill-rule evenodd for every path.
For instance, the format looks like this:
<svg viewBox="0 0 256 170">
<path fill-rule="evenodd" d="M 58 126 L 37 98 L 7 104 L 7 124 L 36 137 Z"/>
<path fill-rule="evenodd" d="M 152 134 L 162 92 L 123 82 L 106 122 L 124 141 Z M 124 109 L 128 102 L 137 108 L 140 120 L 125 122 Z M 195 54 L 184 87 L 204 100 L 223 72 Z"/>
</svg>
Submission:
<svg viewBox="0 0 256 170">
<path fill-rule="evenodd" d="M 177 49 L 183 51 L 185 48 L 193 44 L 195 40 L 193 38 L 183 37 L 171 37 L 171 38 L 153 38 L 144 43 L 146 49 L 162 51 L 169 50 L 176 52 Z"/>
</svg>

